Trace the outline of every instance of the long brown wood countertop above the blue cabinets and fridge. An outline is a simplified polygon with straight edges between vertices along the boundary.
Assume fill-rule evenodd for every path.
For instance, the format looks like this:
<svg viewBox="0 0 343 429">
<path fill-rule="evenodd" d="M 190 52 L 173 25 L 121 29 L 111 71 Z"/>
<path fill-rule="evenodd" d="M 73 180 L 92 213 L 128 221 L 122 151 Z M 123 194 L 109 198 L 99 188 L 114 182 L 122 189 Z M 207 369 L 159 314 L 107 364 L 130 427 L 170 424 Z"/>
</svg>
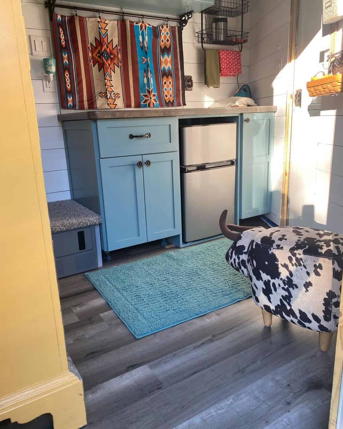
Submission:
<svg viewBox="0 0 343 429">
<path fill-rule="evenodd" d="M 170 116 L 194 116 L 194 115 L 232 115 L 240 113 L 263 113 L 276 112 L 277 106 L 256 106 L 256 107 L 223 107 L 223 108 L 202 108 L 188 109 L 187 107 L 176 109 L 103 109 L 84 110 L 57 115 L 58 121 L 82 121 L 97 119 L 124 119 L 124 118 L 166 118 Z"/>
</svg>

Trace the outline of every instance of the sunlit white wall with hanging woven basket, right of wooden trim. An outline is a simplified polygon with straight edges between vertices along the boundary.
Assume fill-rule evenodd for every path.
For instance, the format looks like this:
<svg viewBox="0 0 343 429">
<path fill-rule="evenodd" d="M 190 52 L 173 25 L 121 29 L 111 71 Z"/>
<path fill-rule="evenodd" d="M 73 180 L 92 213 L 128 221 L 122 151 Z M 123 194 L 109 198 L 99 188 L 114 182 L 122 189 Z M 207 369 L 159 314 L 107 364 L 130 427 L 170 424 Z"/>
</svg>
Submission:
<svg viewBox="0 0 343 429">
<path fill-rule="evenodd" d="M 331 38 L 322 25 L 322 0 L 299 3 L 295 90 L 301 108 L 292 118 L 289 224 L 343 233 L 343 95 L 309 97 L 306 82 L 323 70 Z M 343 21 L 333 51 L 343 48 Z"/>
</svg>

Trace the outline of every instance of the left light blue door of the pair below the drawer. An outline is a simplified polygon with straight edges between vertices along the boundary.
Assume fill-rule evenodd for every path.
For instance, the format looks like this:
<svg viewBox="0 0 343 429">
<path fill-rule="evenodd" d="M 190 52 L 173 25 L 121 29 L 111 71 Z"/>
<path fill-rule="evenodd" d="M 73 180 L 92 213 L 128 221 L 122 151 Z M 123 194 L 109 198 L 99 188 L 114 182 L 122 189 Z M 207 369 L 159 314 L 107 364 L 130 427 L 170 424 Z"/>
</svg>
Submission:
<svg viewBox="0 0 343 429">
<path fill-rule="evenodd" d="M 99 161 L 108 251 L 145 243 L 141 155 Z"/>
</svg>

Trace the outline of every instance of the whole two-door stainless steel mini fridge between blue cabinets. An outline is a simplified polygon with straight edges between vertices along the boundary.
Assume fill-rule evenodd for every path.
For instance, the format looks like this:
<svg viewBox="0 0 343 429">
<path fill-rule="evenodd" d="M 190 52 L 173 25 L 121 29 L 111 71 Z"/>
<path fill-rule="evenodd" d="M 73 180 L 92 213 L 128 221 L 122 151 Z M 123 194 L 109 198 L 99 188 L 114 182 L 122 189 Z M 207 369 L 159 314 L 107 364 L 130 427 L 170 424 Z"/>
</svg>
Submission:
<svg viewBox="0 0 343 429">
<path fill-rule="evenodd" d="M 236 123 L 181 127 L 182 235 L 193 242 L 235 221 Z"/>
</svg>

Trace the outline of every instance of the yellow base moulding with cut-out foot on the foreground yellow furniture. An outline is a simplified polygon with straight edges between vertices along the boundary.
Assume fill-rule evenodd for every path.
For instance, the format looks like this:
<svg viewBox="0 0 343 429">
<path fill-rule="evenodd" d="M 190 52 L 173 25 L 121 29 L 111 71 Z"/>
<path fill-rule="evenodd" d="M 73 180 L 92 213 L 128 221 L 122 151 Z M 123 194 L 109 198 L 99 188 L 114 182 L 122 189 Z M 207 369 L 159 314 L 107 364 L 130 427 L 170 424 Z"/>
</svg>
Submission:
<svg viewBox="0 0 343 429">
<path fill-rule="evenodd" d="M 0 398 L 0 421 L 27 423 L 45 413 L 52 414 L 54 429 L 87 423 L 83 384 L 75 374 L 66 371 Z"/>
</svg>

